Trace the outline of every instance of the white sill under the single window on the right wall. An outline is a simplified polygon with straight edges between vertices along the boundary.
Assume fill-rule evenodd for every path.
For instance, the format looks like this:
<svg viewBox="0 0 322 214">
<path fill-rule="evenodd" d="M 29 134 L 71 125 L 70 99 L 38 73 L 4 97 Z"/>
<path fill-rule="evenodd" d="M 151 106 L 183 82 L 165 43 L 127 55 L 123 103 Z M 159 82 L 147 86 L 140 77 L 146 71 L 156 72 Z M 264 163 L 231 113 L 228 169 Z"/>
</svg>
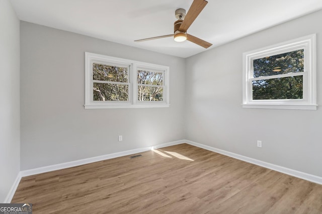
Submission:
<svg viewBox="0 0 322 214">
<path fill-rule="evenodd" d="M 242 104 L 243 108 L 265 108 L 265 109 L 294 109 L 294 110 L 316 110 L 317 105 L 285 105 L 285 104 Z"/>
</svg>

